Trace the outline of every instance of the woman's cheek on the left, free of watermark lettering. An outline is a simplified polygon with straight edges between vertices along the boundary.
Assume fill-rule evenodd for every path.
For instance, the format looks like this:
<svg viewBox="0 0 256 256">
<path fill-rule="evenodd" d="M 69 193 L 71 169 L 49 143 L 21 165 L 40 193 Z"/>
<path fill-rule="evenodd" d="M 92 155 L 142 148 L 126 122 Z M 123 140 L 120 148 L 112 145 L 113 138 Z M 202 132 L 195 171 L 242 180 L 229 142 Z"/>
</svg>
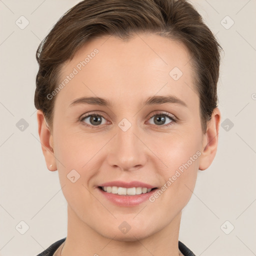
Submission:
<svg viewBox="0 0 256 256">
<path fill-rule="evenodd" d="M 63 194 L 70 204 L 75 205 L 73 198 L 87 198 L 87 188 L 91 188 L 91 179 L 98 175 L 102 163 L 100 149 L 105 139 L 98 139 L 98 134 L 88 135 L 84 131 L 58 129 L 55 134 L 55 157 L 59 181 L 64 187 Z M 66 191 L 66 192 L 65 192 Z M 86 200 L 90 200 L 87 198 Z M 74 207 L 74 206 L 73 206 Z"/>
</svg>

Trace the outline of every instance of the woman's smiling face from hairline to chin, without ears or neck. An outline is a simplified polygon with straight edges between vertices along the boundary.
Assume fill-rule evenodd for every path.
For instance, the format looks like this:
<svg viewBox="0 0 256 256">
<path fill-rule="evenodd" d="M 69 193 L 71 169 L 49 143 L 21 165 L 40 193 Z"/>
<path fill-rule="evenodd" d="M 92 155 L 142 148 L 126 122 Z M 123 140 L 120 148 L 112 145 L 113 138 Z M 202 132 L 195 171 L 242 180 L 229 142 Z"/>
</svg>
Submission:
<svg viewBox="0 0 256 256">
<path fill-rule="evenodd" d="M 170 225 L 190 199 L 206 140 L 189 59 L 182 44 L 140 34 L 94 38 L 63 65 L 52 160 L 81 224 L 108 238 L 139 239 Z M 119 195 L 113 186 L 154 189 Z"/>
</svg>

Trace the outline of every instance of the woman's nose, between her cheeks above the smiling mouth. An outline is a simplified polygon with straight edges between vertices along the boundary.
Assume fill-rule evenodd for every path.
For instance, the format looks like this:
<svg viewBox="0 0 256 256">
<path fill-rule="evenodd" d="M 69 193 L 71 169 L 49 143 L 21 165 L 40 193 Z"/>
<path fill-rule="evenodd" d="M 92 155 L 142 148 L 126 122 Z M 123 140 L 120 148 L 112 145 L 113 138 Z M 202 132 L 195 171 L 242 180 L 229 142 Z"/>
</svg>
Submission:
<svg viewBox="0 0 256 256">
<path fill-rule="evenodd" d="M 108 164 L 121 170 L 137 170 L 145 165 L 148 149 L 135 124 L 126 131 L 119 126 L 109 145 Z"/>
</svg>

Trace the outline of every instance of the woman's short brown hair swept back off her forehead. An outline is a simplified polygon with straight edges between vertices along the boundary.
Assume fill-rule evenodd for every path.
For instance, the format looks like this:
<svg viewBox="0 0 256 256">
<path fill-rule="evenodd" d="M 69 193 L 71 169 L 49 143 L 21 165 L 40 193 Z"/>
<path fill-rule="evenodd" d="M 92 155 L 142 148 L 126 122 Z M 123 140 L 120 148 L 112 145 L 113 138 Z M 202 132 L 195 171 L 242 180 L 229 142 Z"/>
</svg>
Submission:
<svg viewBox="0 0 256 256">
<path fill-rule="evenodd" d="M 200 99 L 203 133 L 217 106 L 221 46 L 197 10 L 186 0 L 83 0 L 56 22 L 36 51 L 34 105 L 52 126 L 54 98 L 62 64 L 90 38 L 113 35 L 123 40 L 151 32 L 183 43 L 191 57 L 194 86 Z"/>
</svg>

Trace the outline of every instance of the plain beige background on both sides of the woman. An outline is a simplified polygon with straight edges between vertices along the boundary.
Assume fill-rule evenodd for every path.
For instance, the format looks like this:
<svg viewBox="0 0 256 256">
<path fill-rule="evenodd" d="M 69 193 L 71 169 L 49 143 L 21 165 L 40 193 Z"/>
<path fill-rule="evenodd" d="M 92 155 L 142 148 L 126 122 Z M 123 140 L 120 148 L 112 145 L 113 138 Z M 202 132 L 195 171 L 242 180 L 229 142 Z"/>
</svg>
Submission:
<svg viewBox="0 0 256 256">
<path fill-rule="evenodd" d="M 66 236 L 66 201 L 57 172 L 46 168 L 37 133 L 35 51 L 77 2 L 0 0 L 1 256 L 37 255 Z M 179 240 L 197 256 L 256 255 L 256 0 L 191 2 L 224 50 L 218 82 L 223 127 L 216 157 L 198 173 L 183 209 Z M 21 15 L 29 21 L 24 29 L 15 23 Z M 23 131 L 16 126 L 21 118 L 28 124 Z M 24 234 L 20 221 L 29 226 Z"/>
</svg>

